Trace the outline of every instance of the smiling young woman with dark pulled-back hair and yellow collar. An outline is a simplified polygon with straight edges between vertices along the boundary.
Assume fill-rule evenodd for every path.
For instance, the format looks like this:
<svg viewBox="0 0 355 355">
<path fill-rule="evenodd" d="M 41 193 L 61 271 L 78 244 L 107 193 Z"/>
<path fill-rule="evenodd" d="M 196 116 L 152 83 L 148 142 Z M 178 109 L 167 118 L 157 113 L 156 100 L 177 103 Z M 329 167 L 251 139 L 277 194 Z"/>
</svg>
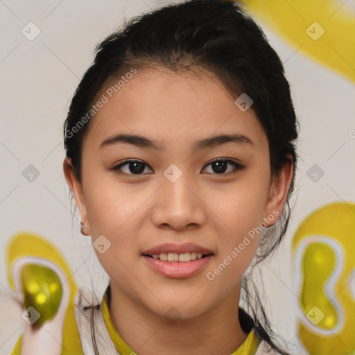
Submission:
<svg viewBox="0 0 355 355">
<path fill-rule="evenodd" d="M 64 123 L 110 277 L 77 313 L 84 354 L 288 354 L 249 283 L 286 232 L 296 139 L 282 62 L 239 3 L 167 6 L 98 45 Z"/>
</svg>

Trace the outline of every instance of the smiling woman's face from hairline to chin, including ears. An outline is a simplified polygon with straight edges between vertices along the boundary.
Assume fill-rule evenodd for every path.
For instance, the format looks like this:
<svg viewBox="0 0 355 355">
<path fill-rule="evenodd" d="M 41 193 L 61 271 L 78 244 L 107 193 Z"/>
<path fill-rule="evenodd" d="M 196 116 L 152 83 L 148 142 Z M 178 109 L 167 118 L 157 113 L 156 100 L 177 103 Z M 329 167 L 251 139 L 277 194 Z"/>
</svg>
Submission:
<svg viewBox="0 0 355 355">
<path fill-rule="evenodd" d="M 241 110 L 206 74 L 146 69 L 89 124 L 82 184 L 71 189 L 112 287 L 161 315 L 175 307 L 181 318 L 239 290 L 291 181 L 290 167 L 272 184 L 252 107 Z M 138 164 L 115 168 L 127 159 Z"/>
</svg>

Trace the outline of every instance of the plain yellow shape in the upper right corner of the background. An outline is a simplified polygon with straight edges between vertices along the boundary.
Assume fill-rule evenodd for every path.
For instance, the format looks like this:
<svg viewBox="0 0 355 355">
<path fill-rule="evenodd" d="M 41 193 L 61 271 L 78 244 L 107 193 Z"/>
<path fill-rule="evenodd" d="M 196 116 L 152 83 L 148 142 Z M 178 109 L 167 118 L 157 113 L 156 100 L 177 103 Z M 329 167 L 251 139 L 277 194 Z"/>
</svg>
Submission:
<svg viewBox="0 0 355 355">
<path fill-rule="evenodd" d="M 350 1 L 243 2 L 257 22 L 274 29 L 293 45 L 295 51 L 298 49 L 355 82 L 355 16 Z"/>
</svg>

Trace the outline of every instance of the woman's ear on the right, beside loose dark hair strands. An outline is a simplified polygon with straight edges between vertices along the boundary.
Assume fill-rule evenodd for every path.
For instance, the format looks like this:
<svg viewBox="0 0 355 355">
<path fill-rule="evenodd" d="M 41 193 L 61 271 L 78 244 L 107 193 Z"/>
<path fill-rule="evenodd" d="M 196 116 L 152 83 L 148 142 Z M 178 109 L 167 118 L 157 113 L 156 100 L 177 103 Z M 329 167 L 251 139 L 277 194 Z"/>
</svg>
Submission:
<svg viewBox="0 0 355 355">
<path fill-rule="evenodd" d="M 264 220 L 266 221 L 267 227 L 273 225 L 279 216 L 281 216 L 282 209 L 284 209 L 286 203 L 288 190 L 290 189 L 293 178 L 293 158 L 292 155 L 287 155 L 287 157 L 288 159 L 282 167 L 279 176 L 274 176 L 270 184 L 268 200 L 266 201 L 264 209 Z M 276 211 L 278 213 L 276 213 Z M 268 216 L 278 216 L 278 218 L 276 218 L 276 220 L 272 218 L 272 222 L 267 223 Z"/>
</svg>

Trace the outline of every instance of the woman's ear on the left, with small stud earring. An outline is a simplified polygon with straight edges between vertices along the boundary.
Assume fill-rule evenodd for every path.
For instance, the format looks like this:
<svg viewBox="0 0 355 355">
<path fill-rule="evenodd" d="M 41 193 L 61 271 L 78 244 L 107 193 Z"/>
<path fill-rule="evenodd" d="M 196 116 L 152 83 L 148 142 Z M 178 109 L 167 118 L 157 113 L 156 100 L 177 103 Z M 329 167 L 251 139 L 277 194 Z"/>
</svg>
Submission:
<svg viewBox="0 0 355 355">
<path fill-rule="evenodd" d="M 73 193 L 73 196 L 76 201 L 76 206 L 78 207 L 80 211 L 80 217 L 81 220 L 84 223 L 85 228 L 83 228 L 82 233 L 85 235 L 89 235 L 89 221 L 87 220 L 87 211 L 86 211 L 86 205 L 85 205 L 85 197 L 84 197 L 84 191 L 83 191 L 83 183 L 79 182 L 76 177 L 74 176 L 73 173 L 73 165 L 71 164 L 71 159 L 69 157 L 65 157 L 64 162 L 63 162 L 63 171 L 65 175 L 65 179 L 67 180 L 67 183 L 69 184 L 71 193 Z M 87 232 L 83 232 L 86 230 Z"/>
</svg>

